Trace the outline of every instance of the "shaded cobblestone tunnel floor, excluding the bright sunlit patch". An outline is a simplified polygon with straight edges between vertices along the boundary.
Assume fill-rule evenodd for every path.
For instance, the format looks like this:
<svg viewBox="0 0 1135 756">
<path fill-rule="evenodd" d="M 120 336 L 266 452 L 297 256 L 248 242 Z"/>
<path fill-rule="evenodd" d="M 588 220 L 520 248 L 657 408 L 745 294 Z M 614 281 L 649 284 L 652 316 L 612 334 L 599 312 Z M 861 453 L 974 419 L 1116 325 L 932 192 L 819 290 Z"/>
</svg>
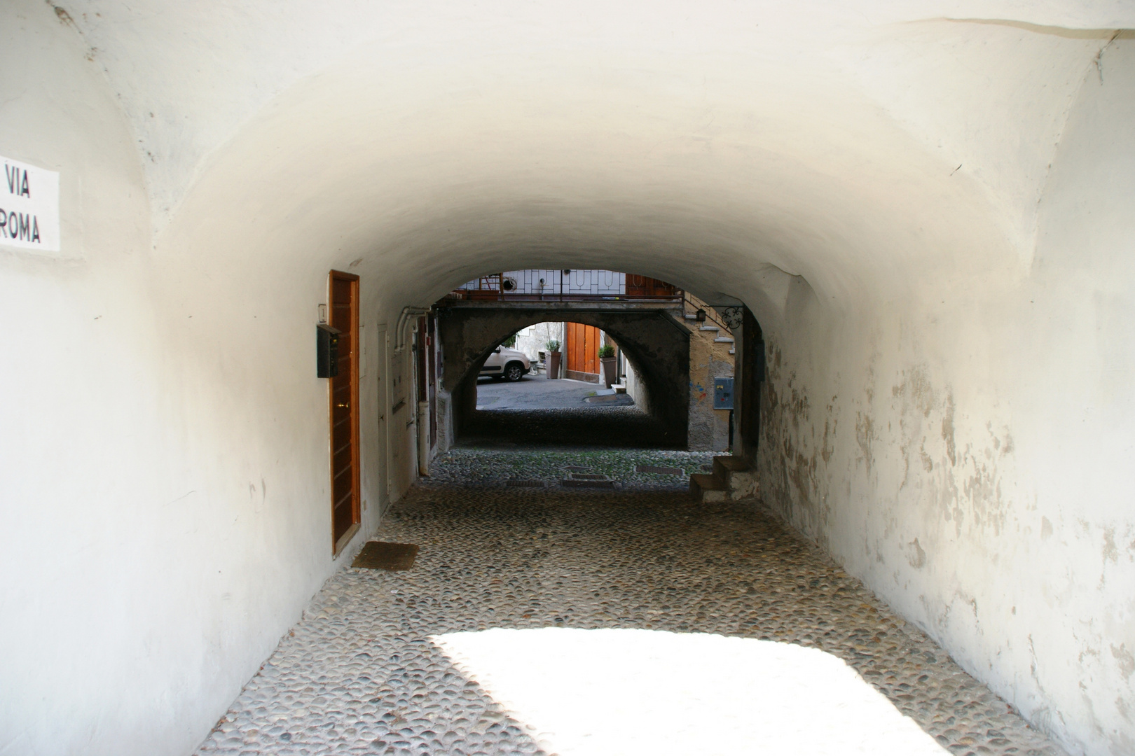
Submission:
<svg viewBox="0 0 1135 756">
<path fill-rule="evenodd" d="M 949 753 L 1063 753 L 754 503 L 695 506 L 684 476 L 670 478 L 669 491 L 655 483 L 614 493 L 446 483 L 478 468 L 482 482 L 513 473 L 499 452 L 463 453 L 442 460 L 435 483 L 395 504 L 377 535 L 419 544 L 414 568 L 333 576 L 199 754 L 545 754 L 429 639 L 544 627 L 812 646 L 847 662 Z M 619 467 L 605 453 L 606 462 L 548 452 L 540 461 Z M 644 455 L 629 455 L 622 469 L 701 464 Z M 706 753 L 733 751 L 723 744 Z"/>
</svg>

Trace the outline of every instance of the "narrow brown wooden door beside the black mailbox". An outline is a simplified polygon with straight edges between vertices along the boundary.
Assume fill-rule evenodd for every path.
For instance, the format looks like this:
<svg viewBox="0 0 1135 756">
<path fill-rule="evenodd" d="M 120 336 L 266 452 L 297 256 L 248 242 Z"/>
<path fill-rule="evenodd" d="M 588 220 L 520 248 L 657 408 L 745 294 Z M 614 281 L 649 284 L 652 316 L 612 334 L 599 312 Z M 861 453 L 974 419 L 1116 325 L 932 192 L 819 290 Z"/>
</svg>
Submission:
<svg viewBox="0 0 1135 756">
<path fill-rule="evenodd" d="M 359 526 L 359 277 L 331 271 L 330 325 L 339 335 L 339 372 L 330 380 L 331 547 L 338 553 Z"/>
</svg>

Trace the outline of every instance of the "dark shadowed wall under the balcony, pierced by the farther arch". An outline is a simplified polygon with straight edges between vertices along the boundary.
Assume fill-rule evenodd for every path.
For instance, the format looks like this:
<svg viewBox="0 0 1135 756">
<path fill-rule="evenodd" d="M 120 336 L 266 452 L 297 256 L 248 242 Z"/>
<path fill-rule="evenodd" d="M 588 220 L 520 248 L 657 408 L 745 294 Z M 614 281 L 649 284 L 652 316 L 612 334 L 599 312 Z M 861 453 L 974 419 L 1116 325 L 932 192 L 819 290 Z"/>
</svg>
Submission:
<svg viewBox="0 0 1135 756">
<path fill-rule="evenodd" d="M 644 309 L 620 303 L 453 303 L 438 309 L 438 335 L 444 355 L 439 394 L 448 394 L 443 426 L 452 438 L 499 438 L 499 427 L 477 409 L 477 379 L 485 360 L 507 337 L 546 321 L 581 323 L 611 334 L 638 368 L 647 398 L 641 416 L 622 417 L 596 427 L 596 418 L 531 418 L 507 428 L 505 435 L 526 443 L 560 443 L 583 435 L 608 445 L 684 449 L 689 424 L 690 333 L 666 308 Z M 600 421 L 602 425 L 602 421 Z"/>
</svg>

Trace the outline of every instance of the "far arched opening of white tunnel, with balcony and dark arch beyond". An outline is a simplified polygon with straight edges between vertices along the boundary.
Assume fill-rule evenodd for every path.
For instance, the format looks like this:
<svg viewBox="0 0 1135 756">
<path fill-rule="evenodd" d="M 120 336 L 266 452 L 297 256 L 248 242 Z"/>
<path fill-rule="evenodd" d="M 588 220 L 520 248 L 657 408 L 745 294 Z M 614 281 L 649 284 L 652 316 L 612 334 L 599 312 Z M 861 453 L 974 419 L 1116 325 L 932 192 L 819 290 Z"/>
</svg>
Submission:
<svg viewBox="0 0 1135 756">
<path fill-rule="evenodd" d="M 448 443 L 732 445 L 732 404 L 714 383 L 733 377 L 737 341 L 724 315 L 678 286 L 521 269 L 472 279 L 431 313 Z"/>
</svg>

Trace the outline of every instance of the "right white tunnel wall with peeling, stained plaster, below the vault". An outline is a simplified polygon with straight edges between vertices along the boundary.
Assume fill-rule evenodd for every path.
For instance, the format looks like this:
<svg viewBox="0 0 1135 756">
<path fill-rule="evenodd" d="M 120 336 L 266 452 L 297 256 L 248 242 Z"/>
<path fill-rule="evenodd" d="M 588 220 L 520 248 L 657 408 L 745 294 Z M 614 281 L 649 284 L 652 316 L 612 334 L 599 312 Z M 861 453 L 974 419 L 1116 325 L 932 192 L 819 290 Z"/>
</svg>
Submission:
<svg viewBox="0 0 1135 756">
<path fill-rule="evenodd" d="M 1082 68 L 1027 271 L 931 281 L 832 322 L 823 358 L 766 309 L 788 328 L 766 337 L 759 459 L 766 502 L 1034 723 L 1073 753 L 1124 754 L 1130 35 Z M 821 309 L 808 291 L 785 308 Z"/>
</svg>

